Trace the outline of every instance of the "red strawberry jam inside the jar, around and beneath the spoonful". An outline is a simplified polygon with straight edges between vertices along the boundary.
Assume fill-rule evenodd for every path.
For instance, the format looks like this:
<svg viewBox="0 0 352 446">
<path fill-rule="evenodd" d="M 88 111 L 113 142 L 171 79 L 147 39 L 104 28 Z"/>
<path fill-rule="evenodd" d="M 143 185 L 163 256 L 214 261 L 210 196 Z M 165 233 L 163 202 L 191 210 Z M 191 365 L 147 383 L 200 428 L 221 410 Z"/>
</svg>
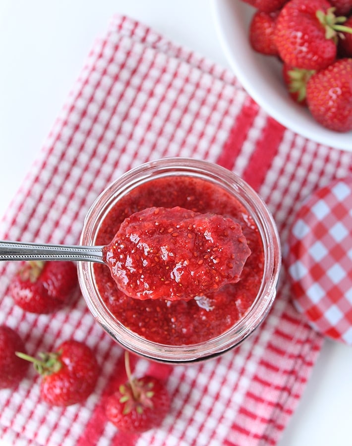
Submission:
<svg viewBox="0 0 352 446">
<path fill-rule="evenodd" d="M 123 196 L 101 223 L 96 244 L 109 244 L 125 218 L 154 206 L 179 206 L 239 223 L 251 250 L 240 280 L 189 301 L 138 300 L 117 288 L 107 266 L 95 264 L 96 285 L 106 307 L 129 330 L 164 345 L 195 344 L 221 335 L 247 313 L 263 278 L 264 251 L 256 224 L 222 187 L 199 178 L 172 176 L 150 180 Z"/>
</svg>

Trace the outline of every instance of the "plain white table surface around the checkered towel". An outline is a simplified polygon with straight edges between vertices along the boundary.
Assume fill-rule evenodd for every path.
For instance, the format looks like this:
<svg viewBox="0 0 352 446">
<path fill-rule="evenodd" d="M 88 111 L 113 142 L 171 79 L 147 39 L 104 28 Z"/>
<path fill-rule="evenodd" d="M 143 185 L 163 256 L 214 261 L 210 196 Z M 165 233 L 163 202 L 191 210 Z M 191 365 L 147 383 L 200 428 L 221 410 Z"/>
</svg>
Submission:
<svg viewBox="0 0 352 446">
<path fill-rule="evenodd" d="M 0 0 L 0 215 L 114 13 L 229 67 L 208 0 Z M 351 426 L 352 347 L 326 341 L 280 446 L 352 445 Z"/>
</svg>

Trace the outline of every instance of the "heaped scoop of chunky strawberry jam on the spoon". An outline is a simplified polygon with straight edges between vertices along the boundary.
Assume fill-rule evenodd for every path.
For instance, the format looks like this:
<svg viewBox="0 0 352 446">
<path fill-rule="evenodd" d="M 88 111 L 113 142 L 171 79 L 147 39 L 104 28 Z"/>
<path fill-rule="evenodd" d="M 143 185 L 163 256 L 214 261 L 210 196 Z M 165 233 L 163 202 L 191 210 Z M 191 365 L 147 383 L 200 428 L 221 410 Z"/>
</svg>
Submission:
<svg viewBox="0 0 352 446">
<path fill-rule="evenodd" d="M 104 248 L 118 288 L 141 300 L 191 300 L 238 282 L 249 254 L 238 223 L 179 206 L 132 214 Z"/>
</svg>

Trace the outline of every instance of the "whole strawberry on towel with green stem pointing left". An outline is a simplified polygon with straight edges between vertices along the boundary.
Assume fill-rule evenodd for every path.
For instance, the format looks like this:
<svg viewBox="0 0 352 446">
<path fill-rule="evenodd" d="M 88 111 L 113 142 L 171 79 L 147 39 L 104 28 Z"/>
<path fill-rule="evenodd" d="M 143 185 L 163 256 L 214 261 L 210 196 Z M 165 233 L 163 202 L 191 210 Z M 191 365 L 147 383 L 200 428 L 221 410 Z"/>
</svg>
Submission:
<svg viewBox="0 0 352 446">
<path fill-rule="evenodd" d="M 51 405 L 82 403 L 95 388 L 100 368 L 92 350 L 82 342 L 66 340 L 55 352 L 39 353 L 40 359 L 21 352 L 17 355 L 32 362 L 42 375 L 41 397 Z"/>
</svg>

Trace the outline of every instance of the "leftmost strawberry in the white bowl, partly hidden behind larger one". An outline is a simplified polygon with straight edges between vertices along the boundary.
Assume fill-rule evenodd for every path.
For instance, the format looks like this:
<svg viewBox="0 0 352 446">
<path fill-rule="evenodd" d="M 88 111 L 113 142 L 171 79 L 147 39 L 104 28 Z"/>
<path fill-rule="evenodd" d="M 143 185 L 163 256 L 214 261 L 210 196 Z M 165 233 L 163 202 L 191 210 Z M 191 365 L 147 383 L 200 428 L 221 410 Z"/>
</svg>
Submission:
<svg viewBox="0 0 352 446">
<path fill-rule="evenodd" d="M 278 15 L 279 11 L 257 11 L 253 15 L 249 26 L 249 42 L 257 53 L 279 55 L 274 39 L 275 22 Z"/>
</svg>

